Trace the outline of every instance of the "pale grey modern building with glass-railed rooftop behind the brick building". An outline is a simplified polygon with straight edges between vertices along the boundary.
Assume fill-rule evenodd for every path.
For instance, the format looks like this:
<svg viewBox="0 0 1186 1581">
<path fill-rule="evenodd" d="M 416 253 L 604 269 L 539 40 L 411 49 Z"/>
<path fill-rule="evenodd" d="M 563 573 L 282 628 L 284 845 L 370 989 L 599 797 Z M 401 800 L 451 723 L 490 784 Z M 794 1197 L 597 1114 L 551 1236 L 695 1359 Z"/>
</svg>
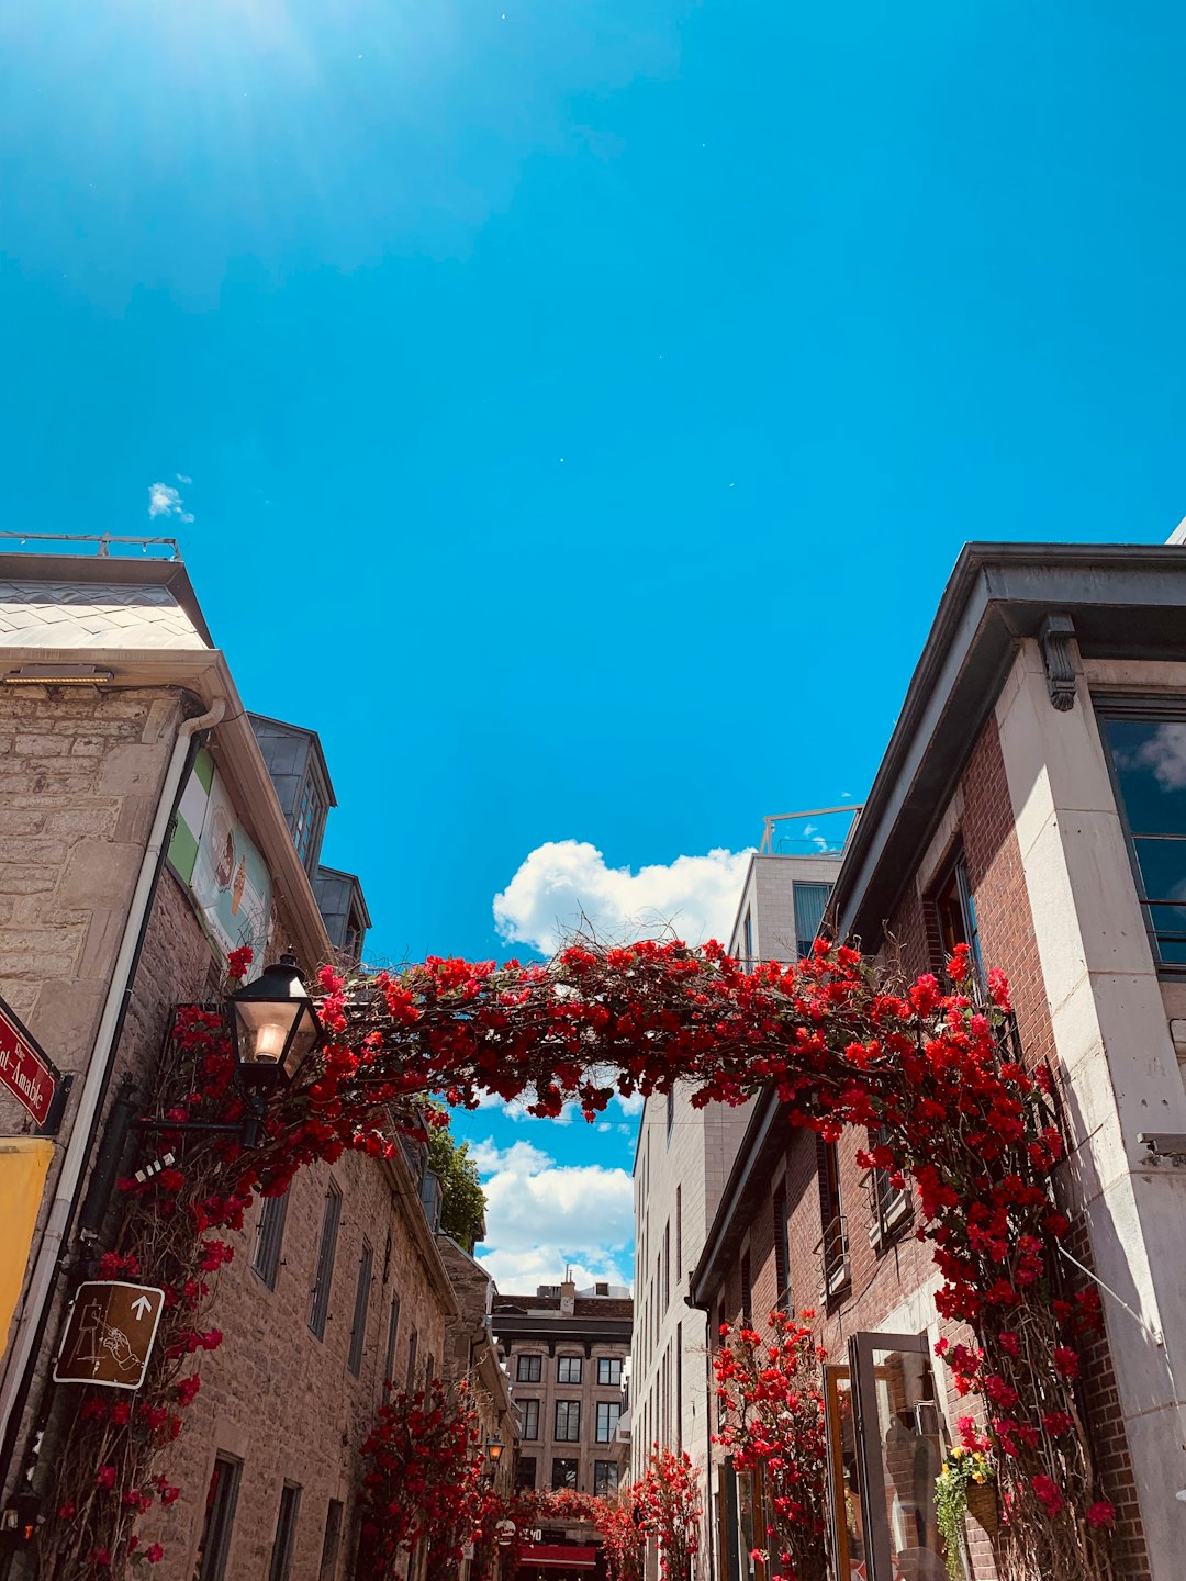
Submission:
<svg viewBox="0 0 1186 1581">
<path fill-rule="evenodd" d="M 843 825 L 852 809 L 844 809 Z M 805 827 L 811 814 L 770 819 Z M 767 827 L 769 827 L 767 825 Z M 806 827 L 811 827 L 806 824 Z M 841 828 L 843 835 L 843 828 Z M 775 836 L 778 838 L 778 836 Z M 810 836 L 805 841 L 810 844 Z M 810 950 L 832 881 L 835 854 L 797 849 L 784 838 L 781 854 L 767 836 L 754 852 L 742 885 L 729 953 L 742 961 L 797 960 Z M 653 1443 L 685 1450 L 708 1502 L 705 1312 L 686 1303 L 688 1276 L 704 1249 L 724 1183 L 745 1134 L 750 1105 L 694 1108 L 680 1086 L 650 1097 L 634 1151 L 634 1292 L 639 1320 L 631 1353 L 631 1473 L 640 1477 Z M 701 1568 L 708 1551 L 701 1556 Z"/>
</svg>

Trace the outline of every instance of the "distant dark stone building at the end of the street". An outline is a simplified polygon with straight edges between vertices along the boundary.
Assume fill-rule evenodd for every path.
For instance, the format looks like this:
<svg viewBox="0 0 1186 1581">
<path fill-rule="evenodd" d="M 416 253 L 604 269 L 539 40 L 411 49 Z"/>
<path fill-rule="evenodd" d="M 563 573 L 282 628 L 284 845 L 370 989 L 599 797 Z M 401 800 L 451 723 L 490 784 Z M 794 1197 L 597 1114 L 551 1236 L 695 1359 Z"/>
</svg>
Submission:
<svg viewBox="0 0 1186 1581">
<path fill-rule="evenodd" d="M 519 1412 L 517 1486 L 617 1491 L 633 1312 L 629 1295 L 609 1284 L 577 1293 L 565 1281 L 495 1296 L 493 1333 Z"/>
</svg>

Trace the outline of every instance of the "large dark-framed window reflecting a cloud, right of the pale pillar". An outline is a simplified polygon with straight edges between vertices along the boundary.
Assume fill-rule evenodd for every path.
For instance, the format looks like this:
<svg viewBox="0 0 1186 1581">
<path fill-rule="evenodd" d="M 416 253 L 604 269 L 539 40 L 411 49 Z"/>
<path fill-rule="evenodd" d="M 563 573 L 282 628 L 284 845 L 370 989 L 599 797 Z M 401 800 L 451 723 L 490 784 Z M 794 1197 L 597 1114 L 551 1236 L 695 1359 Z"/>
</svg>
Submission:
<svg viewBox="0 0 1186 1581">
<path fill-rule="evenodd" d="M 1186 711 L 1101 711 L 1153 958 L 1186 966 Z"/>
</svg>

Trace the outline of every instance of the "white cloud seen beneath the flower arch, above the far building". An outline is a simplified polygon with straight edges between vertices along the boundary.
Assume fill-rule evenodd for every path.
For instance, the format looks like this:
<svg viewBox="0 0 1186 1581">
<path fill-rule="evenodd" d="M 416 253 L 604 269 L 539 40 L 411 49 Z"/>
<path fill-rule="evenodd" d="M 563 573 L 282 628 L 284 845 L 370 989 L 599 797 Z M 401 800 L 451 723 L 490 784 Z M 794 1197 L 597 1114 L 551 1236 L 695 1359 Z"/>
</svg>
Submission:
<svg viewBox="0 0 1186 1581">
<path fill-rule="evenodd" d="M 481 1262 L 501 1290 L 557 1284 L 629 1284 L 634 1198 L 626 1170 L 557 1164 L 530 1141 L 470 1145 L 485 1189 Z M 579 1270 L 579 1271 L 577 1271 Z"/>
</svg>

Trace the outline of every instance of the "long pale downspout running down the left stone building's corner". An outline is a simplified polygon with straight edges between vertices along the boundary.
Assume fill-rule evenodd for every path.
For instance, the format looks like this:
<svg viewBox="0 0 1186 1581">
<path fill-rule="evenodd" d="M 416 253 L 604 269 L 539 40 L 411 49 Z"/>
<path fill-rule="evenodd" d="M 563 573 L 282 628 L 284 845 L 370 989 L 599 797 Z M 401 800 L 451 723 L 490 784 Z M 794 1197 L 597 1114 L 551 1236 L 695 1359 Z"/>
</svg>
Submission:
<svg viewBox="0 0 1186 1581">
<path fill-rule="evenodd" d="M 54 1285 L 65 1262 L 66 1235 L 74 1216 L 82 1175 L 95 1143 L 103 1099 L 111 1081 L 119 1034 L 127 1013 L 128 998 L 131 996 L 136 964 L 149 922 L 149 909 L 157 889 L 157 877 L 164 862 L 164 843 L 169 836 L 177 802 L 180 800 L 185 768 L 198 734 L 218 724 L 225 713 L 226 699 L 217 697 L 206 713 L 198 715 L 195 719 L 182 721 L 177 740 L 172 745 L 169 767 L 164 772 L 164 783 L 157 803 L 157 816 L 149 832 L 149 844 L 144 849 L 141 870 L 136 876 L 136 889 L 131 895 L 123 938 L 120 939 L 119 955 L 112 968 L 111 987 L 103 1004 L 95 1047 L 87 1064 L 79 1107 L 74 1115 L 74 1124 L 70 1129 L 66 1156 L 57 1178 L 54 1202 L 41 1236 L 33 1274 L 25 1292 L 21 1322 L 5 1369 L 5 1382 L 0 1390 L 0 1440 L 3 1442 L 0 1466 L 11 1464 L 24 1401 L 32 1383 L 32 1361 L 44 1333 Z"/>
</svg>

